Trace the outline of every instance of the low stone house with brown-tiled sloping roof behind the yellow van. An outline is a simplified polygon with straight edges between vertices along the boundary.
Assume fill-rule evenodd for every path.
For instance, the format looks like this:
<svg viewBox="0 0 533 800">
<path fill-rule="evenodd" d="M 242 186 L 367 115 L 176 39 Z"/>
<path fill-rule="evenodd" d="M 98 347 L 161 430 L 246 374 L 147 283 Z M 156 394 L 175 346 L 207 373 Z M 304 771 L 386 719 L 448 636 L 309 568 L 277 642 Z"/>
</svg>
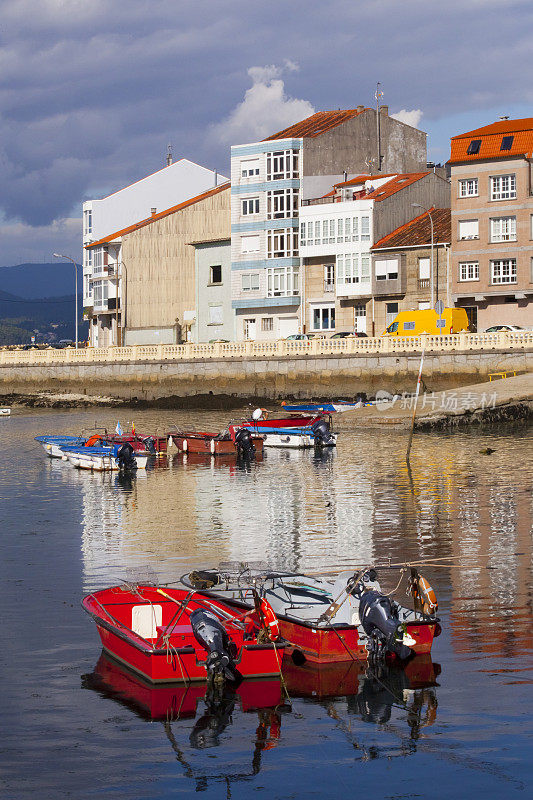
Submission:
<svg viewBox="0 0 533 800">
<path fill-rule="evenodd" d="M 437 300 L 450 305 L 451 211 L 428 210 L 429 214 L 423 212 L 371 248 L 372 315 L 377 336 L 400 311 L 434 308 Z"/>
</svg>

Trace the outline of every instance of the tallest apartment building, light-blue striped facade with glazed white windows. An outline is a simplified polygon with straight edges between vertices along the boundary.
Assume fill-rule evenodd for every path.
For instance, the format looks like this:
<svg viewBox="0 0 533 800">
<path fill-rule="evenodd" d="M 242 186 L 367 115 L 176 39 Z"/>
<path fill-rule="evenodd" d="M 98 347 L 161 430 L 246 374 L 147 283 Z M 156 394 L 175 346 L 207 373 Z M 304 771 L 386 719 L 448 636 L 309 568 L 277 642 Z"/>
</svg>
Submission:
<svg viewBox="0 0 533 800">
<path fill-rule="evenodd" d="M 379 125 L 378 125 L 379 121 Z M 378 136 L 379 131 L 379 136 Z M 231 148 L 231 270 L 236 338 L 296 333 L 302 319 L 302 202 L 339 180 L 425 168 L 426 134 L 378 112 L 324 111 Z"/>
</svg>

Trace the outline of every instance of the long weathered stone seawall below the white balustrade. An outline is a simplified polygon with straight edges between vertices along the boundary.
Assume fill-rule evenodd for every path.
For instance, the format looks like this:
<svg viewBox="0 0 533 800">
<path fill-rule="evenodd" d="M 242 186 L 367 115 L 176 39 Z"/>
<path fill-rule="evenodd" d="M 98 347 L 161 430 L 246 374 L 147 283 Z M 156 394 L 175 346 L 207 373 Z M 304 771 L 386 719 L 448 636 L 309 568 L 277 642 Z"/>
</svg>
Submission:
<svg viewBox="0 0 533 800">
<path fill-rule="evenodd" d="M 414 389 L 420 355 L 336 354 L 234 359 L 75 364 L 0 365 L 0 396 L 43 392 L 102 395 L 125 401 L 155 402 L 195 395 L 243 398 L 347 398 L 378 389 Z M 489 350 L 428 352 L 427 391 L 442 391 L 488 380 L 490 373 L 533 371 L 533 352 Z"/>
</svg>

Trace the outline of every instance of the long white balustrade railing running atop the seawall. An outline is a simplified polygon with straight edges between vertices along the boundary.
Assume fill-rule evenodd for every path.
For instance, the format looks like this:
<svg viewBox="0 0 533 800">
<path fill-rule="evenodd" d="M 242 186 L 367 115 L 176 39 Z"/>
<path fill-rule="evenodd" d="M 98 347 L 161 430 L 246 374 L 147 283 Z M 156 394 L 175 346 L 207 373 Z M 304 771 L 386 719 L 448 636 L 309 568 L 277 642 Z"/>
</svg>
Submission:
<svg viewBox="0 0 533 800">
<path fill-rule="evenodd" d="M 215 344 L 134 344 L 129 347 L 87 347 L 75 350 L 0 349 L 2 365 L 80 364 L 124 361 L 189 361 L 198 359 L 277 358 L 279 356 L 387 355 L 390 353 L 452 353 L 469 350 L 533 351 L 533 331 L 457 333 L 423 336 L 380 336 L 367 339 L 309 339 Z"/>
</svg>

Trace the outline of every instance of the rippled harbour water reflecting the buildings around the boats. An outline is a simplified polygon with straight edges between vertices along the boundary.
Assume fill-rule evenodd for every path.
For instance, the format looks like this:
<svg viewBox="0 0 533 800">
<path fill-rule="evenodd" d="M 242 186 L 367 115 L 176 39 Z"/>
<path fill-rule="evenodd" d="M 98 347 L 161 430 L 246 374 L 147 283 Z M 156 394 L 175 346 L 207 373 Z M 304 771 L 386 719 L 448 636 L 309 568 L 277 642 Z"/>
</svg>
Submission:
<svg viewBox="0 0 533 800">
<path fill-rule="evenodd" d="M 121 412 L 124 427 L 132 413 Z M 227 421 L 216 412 L 134 417 L 138 431 Z M 114 428 L 116 412 L 0 420 L 3 799 L 525 795 L 531 428 L 417 433 L 411 473 L 403 434 L 345 430 L 337 451 L 319 457 L 270 451 L 239 469 L 176 456 L 131 482 L 47 460 L 33 442 L 95 421 Z M 486 447 L 495 452 L 480 454 Z M 462 566 L 426 570 L 443 627 L 438 666 L 425 667 L 437 686 L 409 689 L 401 676 L 391 686 L 390 676 L 380 683 L 355 669 L 333 676 L 333 697 L 310 695 L 312 678 L 298 696 L 298 678 L 290 707 L 243 710 L 238 700 L 201 747 L 201 697 L 192 716 L 152 721 L 139 698 L 95 674 L 99 639 L 80 598 L 133 574 L 173 580 L 232 559 L 317 572 L 442 556 Z"/>
</svg>

